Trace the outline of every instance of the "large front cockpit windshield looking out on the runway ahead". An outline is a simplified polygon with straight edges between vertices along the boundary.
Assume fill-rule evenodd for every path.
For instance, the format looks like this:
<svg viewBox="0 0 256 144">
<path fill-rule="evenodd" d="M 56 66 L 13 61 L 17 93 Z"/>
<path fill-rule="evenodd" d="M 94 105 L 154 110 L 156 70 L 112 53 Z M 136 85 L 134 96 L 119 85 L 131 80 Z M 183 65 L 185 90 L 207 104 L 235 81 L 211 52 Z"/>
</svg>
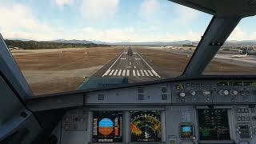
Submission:
<svg viewBox="0 0 256 144">
<path fill-rule="evenodd" d="M 212 16 L 158 0 L 13 0 L 0 18 L 38 95 L 178 77 Z"/>
</svg>

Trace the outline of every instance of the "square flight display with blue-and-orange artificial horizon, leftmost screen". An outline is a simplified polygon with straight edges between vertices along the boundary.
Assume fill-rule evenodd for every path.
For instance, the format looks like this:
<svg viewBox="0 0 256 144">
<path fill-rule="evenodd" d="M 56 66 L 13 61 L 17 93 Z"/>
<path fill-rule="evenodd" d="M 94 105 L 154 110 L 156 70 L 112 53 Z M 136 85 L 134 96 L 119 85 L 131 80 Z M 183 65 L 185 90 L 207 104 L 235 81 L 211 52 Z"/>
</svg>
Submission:
<svg viewBox="0 0 256 144">
<path fill-rule="evenodd" d="M 121 111 L 94 111 L 93 142 L 122 142 Z"/>
</svg>

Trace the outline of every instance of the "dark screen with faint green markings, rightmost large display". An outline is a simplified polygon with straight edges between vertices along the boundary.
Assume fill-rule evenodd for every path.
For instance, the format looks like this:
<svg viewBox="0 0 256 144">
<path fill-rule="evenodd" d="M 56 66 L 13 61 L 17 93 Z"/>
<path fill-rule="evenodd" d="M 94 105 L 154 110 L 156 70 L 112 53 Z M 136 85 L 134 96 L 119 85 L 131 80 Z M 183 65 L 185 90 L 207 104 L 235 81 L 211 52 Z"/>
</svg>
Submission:
<svg viewBox="0 0 256 144">
<path fill-rule="evenodd" d="M 200 140 L 230 140 L 230 127 L 226 109 L 199 109 Z"/>
</svg>

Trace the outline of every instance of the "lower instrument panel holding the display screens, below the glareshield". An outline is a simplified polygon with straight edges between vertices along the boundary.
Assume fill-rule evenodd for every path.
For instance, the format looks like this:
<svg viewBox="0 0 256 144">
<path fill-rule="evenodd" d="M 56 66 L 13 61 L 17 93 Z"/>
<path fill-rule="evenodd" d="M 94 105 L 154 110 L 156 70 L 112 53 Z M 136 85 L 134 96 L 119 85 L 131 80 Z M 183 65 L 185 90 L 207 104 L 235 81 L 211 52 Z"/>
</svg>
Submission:
<svg viewBox="0 0 256 144">
<path fill-rule="evenodd" d="M 67 113 L 62 122 L 72 114 L 68 130 L 66 125 L 57 126 L 55 135 L 61 143 L 254 143 L 256 142 L 256 106 L 127 106 L 121 110 L 106 108 L 86 109 L 88 116 L 80 127 L 74 114 Z M 72 111 L 76 111 L 72 110 Z M 81 125 L 81 126 L 80 126 Z M 78 137 L 80 135 L 80 137 Z M 82 136 L 82 138 L 81 138 Z M 78 137 L 78 138 L 77 138 Z M 80 138 L 80 139 L 79 139 Z M 73 139 L 72 142 L 68 141 Z"/>
</svg>

